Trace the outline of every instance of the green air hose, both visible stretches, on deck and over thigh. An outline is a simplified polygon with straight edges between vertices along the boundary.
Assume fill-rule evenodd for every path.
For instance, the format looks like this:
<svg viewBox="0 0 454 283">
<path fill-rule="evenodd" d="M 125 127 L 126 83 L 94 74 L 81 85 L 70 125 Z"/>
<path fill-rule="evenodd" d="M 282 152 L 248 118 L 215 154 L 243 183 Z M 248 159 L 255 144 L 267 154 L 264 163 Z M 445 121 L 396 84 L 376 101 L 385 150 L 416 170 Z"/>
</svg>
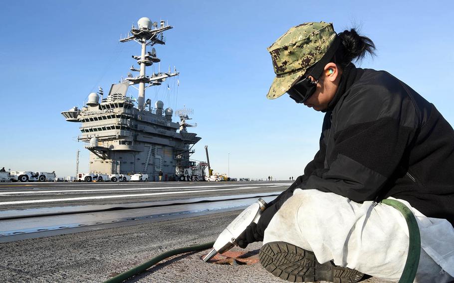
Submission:
<svg viewBox="0 0 454 283">
<path fill-rule="evenodd" d="M 412 211 L 405 206 L 402 202 L 394 200 L 394 199 L 384 199 L 382 203 L 390 205 L 397 210 L 405 217 L 408 225 L 409 231 L 409 248 L 408 248 L 408 256 L 407 261 L 405 262 L 404 271 L 402 272 L 401 279 L 399 283 L 412 283 L 415 280 L 416 271 L 418 270 L 419 259 L 421 254 L 421 236 L 419 233 L 418 223 L 416 222 L 416 218 L 413 215 Z M 171 250 L 160 254 L 148 262 L 141 264 L 140 266 L 134 267 L 128 271 L 125 271 L 113 278 L 106 280 L 104 283 L 120 283 L 127 279 L 130 279 L 133 276 L 136 276 L 148 268 L 154 266 L 155 264 L 159 263 L 160 261 L 179 254 L 189 253 L 194 251 L 201 251 L 211 249 L 215 242 L 209 242 L 201 245 L 196 246 L 189 246 L 180 249 Z"/>
</svg>

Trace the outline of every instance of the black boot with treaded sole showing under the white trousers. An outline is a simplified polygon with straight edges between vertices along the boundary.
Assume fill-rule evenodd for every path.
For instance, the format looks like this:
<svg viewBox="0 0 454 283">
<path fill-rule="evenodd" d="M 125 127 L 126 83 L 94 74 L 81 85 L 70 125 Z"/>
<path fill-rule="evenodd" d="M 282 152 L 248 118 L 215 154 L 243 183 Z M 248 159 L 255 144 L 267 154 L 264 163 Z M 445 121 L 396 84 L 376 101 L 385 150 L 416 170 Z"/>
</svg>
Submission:
<svg viewBox="0 0 454 283">
<path fill-rule="evenodd" d="M 320 264 L 313 252 L 285 242 L 263 245 L 258 254 L 261 265 L 272 275 L 290 282 L 355 283 L 363 274 L 359 271 L 335 266 L 331 262 Z"/>
</svg>

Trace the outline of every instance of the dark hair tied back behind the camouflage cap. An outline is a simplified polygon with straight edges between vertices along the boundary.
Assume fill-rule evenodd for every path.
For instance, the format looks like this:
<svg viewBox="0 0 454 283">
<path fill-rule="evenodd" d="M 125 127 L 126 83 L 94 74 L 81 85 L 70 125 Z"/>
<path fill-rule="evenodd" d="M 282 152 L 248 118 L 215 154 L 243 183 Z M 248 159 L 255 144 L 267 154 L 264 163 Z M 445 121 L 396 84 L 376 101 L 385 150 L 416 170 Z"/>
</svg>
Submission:
<svg viewBox="0 0 454 283">
<path fill-rule="evenodd" d="M 359 35 L 354 28 L 338 34 L 341 44 L 332 62 L 344 69 L 352 61 L 360 61 L 369 53 L 375 55 L 375 44 L 366 36 Z"/>
</svg>

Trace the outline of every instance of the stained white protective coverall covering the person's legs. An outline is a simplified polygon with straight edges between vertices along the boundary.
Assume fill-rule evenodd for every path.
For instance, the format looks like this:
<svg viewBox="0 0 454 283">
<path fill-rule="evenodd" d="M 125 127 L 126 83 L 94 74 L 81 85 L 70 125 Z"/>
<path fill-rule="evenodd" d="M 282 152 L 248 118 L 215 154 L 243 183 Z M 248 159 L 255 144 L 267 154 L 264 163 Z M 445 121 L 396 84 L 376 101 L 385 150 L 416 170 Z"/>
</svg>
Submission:
<svg viewBox="0 0 454 283">
<path fill-rule="evenodd" d="M 415 282 L 454 281 L 454 228 L 446 219 L 414 213 L 421 233 L 421 259 Z M 285 232 L 282 232 L 285 231 Z M 356 203 L 318 190 L 296 189 L 271 219 L 263 244 L 287 242 L 314 252 L 320 263 L 391 281 L 399 280 L 407 259 L 405 218 L 394 207 L 373 201 Z"/>
</svg>

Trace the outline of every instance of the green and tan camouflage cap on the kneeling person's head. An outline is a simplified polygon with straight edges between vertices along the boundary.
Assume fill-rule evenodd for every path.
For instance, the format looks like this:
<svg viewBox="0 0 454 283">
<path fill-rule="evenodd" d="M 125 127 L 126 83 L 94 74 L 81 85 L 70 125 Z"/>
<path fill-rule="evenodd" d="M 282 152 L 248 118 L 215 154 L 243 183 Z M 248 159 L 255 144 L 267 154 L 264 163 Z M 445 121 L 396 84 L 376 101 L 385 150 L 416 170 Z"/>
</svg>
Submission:
<svg viewBox="0 0 454 283">
<path fill-rule="evenodd" d="M 336 36 L 333 24 L 321 21 L 291 27 L 279 37 L 267 48 L 276 77 L 266 98 L 275 99 L 286 93 L 323 57 Z"/>
</svg>

